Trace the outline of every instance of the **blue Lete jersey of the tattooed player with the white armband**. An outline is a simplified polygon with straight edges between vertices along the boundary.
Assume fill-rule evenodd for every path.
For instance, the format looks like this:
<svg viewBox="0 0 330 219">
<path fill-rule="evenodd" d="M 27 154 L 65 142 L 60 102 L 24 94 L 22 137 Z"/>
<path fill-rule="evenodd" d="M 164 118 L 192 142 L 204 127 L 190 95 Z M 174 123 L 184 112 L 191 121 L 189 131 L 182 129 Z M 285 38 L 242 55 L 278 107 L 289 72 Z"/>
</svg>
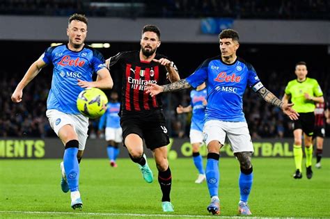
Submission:
<svg viewBox="0 0 330 219">
<path fill-rule="evenodd" d="M 194 88 L 204 81 L 207 88 L 205 122 L 246 122 L 242 101 L 246 86 L 255 92 L 263 87 L 253 66 L 238 57 L 230 65 L 223 63 L 221 56 L 208 58 L 187 77 Z"/>
</svg>

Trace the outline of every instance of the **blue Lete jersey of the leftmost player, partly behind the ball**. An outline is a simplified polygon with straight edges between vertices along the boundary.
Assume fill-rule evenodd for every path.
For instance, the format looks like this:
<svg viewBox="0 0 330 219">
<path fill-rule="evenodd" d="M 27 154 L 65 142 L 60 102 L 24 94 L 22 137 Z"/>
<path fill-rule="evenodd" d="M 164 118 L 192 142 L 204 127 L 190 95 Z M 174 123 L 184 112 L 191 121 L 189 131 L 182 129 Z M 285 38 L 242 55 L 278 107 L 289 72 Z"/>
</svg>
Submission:
<svg viewBox="0 0 330 219">
<path fill-rule="evenodd" d="M 71 51 L 67 44 L 61 44 L 46 49 L 42 60 L 48 65 L 54 65 L 47 109 L 79 114 L 76 102 L 84 88 L 78 86 L 77 79 L 92 81 L 93 74 L 106 67 L 102 54 L 88 46 L 84 46 L 81 51 Z"/>
</svg>

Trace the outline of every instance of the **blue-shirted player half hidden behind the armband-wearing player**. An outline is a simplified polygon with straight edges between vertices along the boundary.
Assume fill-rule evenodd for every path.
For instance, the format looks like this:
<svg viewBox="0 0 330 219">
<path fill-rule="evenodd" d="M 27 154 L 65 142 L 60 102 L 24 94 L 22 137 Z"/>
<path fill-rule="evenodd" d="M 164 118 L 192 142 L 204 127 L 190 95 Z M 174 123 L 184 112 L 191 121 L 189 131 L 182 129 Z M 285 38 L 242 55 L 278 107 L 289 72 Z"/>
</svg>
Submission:
<svg viewBox="0 0 330 219">
<path fill-rule="evenodd" d="M 196 184 L 201 184 L 206 179 L 205 171 L 203 168 L 203 157 L 201 154 L 199 154 L 199 148 L 204 143 L 203 127 L 205 119 L 205 107 L 207 104 L 206 97 L 206 84 L 202 83 L 196 88 L 196 90 L 191 90 L 191 104 L 189 106 L 183 107 L 180 105 L 176 108 L 178 114 L 189 113 L 192 111 L 189 138 L 192 145 L 194 164 L 199 173 L 198 178 L 195 181 Z"/>
</svg>

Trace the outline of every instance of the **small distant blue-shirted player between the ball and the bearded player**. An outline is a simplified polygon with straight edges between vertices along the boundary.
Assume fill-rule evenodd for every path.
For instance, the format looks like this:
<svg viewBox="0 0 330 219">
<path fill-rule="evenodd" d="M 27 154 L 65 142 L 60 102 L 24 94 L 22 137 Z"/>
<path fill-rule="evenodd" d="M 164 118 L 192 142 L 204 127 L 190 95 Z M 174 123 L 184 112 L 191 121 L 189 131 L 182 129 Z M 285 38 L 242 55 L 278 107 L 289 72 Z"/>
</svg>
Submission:
<svg viewBox="0 0 330 219">
<path fill-rule="evenodd" d="M 120 103 L 118 102 L 118 93 L 112 91 L 110 95 L 110 102 L 107 105 L 107 111 L 102 115 L 98 127 L 98 135 L 105 125 L 105 140 L 107 140 L 107 154 L 110 165 L 113 168 L 117 167 L 116 159 L 119 154 L 119 145 L 123 142 L 123 130 L 120 127 Z"/>
</svg>

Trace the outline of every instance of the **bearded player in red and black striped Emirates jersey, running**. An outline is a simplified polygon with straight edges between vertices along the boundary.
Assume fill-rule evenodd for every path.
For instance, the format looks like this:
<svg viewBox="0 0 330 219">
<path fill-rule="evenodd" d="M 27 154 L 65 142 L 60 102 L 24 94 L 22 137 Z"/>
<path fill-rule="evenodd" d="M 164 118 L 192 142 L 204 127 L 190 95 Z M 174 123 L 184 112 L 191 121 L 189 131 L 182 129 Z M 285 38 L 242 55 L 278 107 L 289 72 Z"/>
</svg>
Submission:
<svg viewBox="0 0 330 219">
<path fill-rule="evenodd" d="M 162 112 L 161 97 L 146 93 L 148 83 L 164 85 L 180 80 L 173 61 L 156 54 L 160 46 L 160 31 L 157 26 L 143 27 L 140 51 L 124 51 L 107 60 L 109 70 L 123 74 L 120 126 L 123 129 L 124 145 L 134 163 L 139 164 L 143 178 L 151 183 L 152 171 L 143 153 L 143 139 L 152 150 L 158 169 L 158 181 L 162 190 L 163 211 L 173 211 L 170 200 L 172 175 L 167 161 L 169 143 L 166 122 Z"/>
</svg>

